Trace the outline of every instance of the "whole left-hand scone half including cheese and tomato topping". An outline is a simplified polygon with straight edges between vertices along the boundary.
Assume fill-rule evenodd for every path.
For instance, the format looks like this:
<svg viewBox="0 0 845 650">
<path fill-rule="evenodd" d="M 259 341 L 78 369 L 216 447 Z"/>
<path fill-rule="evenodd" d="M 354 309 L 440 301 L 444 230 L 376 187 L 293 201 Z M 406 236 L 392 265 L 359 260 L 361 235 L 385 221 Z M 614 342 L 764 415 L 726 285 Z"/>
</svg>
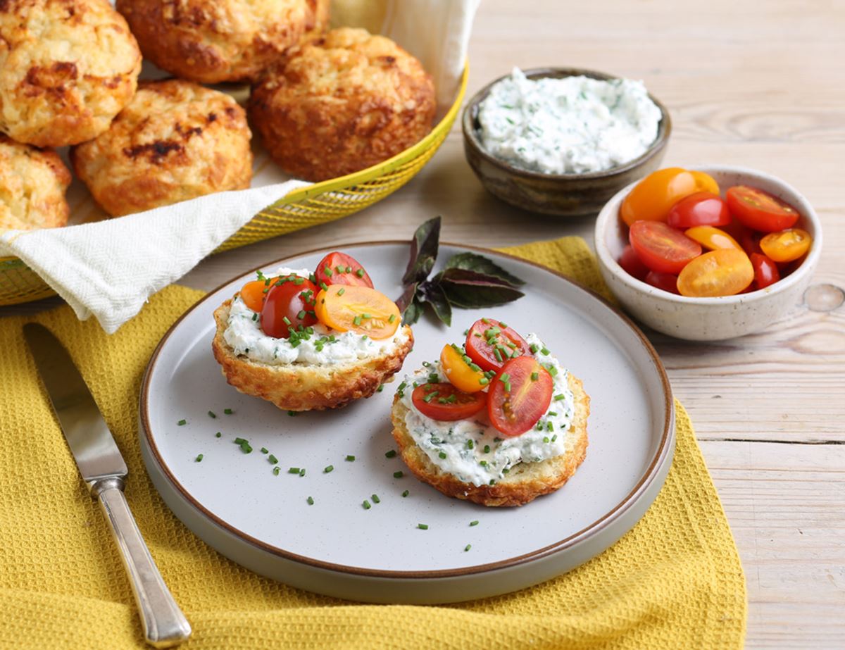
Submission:
<svg viewBox="0 0 845 650">
<path fill-rule="evenodd" d="M 286 411 L 373 395 L 413 347 L 395 303 L 357 260 L 336 252 L 313 272 L 259 272 L 214 315 L 212 349 L 226 381 Z"/>
</svg>

